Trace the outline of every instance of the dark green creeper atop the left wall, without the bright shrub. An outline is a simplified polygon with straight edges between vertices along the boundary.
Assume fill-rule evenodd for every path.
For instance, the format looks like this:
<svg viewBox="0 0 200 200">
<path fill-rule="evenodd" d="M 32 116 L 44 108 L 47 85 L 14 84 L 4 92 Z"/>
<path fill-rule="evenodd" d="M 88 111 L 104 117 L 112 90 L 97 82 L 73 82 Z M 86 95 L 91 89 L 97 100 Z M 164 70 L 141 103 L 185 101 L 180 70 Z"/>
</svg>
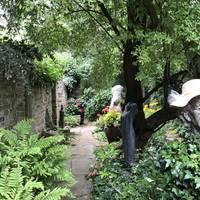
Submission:
<svg viewBox="0 0 200 200">
<path fill-rule="evenodd" d="M 31 45 L 12 40 L 2 40 L 0 43 L 0 74 L 7 80 L 23 85 L 30 85 L 37 77 L 33 76 L 33 60 L 41 59 L 42 55 Z"/>
</svg>

